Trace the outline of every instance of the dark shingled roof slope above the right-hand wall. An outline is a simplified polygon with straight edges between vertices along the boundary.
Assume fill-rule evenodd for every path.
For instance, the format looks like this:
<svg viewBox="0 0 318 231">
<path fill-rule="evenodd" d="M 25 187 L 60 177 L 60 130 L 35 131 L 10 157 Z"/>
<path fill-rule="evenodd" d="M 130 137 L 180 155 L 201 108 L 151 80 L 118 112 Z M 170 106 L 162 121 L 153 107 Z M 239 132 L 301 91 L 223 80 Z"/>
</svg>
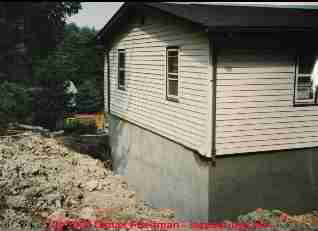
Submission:
<svg viewBox="0 0 318 231">
<path fill-rule="evenodd" d="M 207 27 L 318 27 L 318 10 L 224 6 L 208 4 L 144 3 Z"/>
</svg>

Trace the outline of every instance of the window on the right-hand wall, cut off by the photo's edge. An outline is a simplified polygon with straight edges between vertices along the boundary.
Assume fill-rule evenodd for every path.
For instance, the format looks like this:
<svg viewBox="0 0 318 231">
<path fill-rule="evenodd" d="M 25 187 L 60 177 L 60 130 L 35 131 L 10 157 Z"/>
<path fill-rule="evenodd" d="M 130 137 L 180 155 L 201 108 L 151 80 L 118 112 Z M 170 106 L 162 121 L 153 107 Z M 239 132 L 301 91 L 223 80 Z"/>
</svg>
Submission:
<svg viewBox="0 0 318 231">
<path fill-rule="evenodd" d="M 295 105 L 317 104 L 318 63 L 315 53 L 298 56 L 296 66 Z"/>
</svg>

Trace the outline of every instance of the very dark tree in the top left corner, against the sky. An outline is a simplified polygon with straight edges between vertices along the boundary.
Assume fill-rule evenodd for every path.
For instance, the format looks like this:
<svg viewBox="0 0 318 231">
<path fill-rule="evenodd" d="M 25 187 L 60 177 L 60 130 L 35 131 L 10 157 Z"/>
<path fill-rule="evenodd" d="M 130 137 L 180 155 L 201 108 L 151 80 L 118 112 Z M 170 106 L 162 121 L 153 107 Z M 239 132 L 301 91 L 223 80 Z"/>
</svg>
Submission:
<svg viewBox="0 0 318 231">
<path fill-rule="evenodd" d="M 0 74 L 28 83 L 33 60 L 42 59 L 63 39 L 65 19 L 79 2 L 1 2 Z"/>
</svg>

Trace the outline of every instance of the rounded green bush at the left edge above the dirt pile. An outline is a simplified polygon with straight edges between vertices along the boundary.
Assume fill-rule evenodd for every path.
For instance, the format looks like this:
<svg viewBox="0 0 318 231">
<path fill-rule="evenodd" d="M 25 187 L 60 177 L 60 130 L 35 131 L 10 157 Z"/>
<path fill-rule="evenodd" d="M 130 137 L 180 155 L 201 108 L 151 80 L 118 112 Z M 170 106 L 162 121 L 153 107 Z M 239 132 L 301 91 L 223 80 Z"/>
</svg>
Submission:
<svg viewBox="0 0 318 231">
<path fill-rule="evenodd" d="M 8 81 L 0 84 L 0 130 L 10 122 L 25 122 L 30 110 L 31 97 L 24 87 Z"/>
</svg>

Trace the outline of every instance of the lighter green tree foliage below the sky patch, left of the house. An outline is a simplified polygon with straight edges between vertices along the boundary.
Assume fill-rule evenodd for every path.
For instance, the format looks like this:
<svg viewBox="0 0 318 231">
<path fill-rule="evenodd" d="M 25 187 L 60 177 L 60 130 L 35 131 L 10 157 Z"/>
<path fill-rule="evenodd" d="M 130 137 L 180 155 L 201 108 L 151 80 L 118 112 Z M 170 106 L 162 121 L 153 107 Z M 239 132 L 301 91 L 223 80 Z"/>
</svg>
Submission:
<svg viewBox="0 0 318 231">
<path fill-rule="evenodd" d="M 47 59 L 38 59 L 34 69 L 36 79 L 43 74 L 68 79 L 75 85 L 87 79 L 103 81 L 103 53 L 93 43 L 94 29 L 79 28 L 76 24 L 67 24 L 64 39 L 50 53 Z M 38 67 L 38 65 L 40 67 Z M 53 73 L 52 73 L 53 72 Z"/>
</svg>

